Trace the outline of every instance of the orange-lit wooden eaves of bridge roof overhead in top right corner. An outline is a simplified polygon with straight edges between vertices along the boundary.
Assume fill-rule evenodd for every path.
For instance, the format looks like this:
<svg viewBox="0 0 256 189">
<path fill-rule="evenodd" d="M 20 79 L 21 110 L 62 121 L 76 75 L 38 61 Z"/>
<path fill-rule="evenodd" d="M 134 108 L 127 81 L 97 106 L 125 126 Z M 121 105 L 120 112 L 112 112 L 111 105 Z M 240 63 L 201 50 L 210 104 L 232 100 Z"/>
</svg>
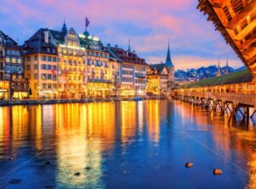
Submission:
<svg viewBox="0 0 256 189">
<path fill-rule="evenodd" d="M 224 39 L 256 77 L 256 0 L 198 0 Z"/>
</svg>

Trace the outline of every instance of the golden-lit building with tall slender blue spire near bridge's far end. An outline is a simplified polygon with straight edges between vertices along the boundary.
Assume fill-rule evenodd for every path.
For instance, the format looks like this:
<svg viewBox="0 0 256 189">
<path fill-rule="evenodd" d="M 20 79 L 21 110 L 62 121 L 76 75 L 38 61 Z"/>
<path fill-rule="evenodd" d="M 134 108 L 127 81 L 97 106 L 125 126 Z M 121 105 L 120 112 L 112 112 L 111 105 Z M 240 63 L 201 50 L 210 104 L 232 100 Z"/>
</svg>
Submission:
<svg viewBox="0 0 256 189">
<path fill-rule="evenodd" d="M 166 62 L 152 64 L 148 66 L 147 71 L 149 95 L 167 95 L 174 83 L 174 66 L 171 60 L 170 48 L 168 43 Z"/>
</svg>

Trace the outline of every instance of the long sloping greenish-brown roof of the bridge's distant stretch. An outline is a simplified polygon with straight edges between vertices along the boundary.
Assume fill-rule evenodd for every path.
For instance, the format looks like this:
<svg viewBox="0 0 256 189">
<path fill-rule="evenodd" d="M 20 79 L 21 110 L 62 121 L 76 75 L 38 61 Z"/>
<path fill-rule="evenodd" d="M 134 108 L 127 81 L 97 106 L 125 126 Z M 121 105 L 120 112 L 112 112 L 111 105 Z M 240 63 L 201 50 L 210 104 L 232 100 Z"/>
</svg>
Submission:
<svg viewBox="0 0 256 189">
<path fill-rule="evenodd" d="M 232 72 L 228 75 L 211 77 L 207 79 L 202 79 L 197 82 L 186 83 L 177 86 L 177 89 L 190 89 L 190 88 L 202 88 L 202 87 L 212 87 L 225 84 L 236 84 L 236 83 L 249 83 L 253 81 L 253 76 L 247 70 L 242 70 L 239 72 Z"/>
</svg>

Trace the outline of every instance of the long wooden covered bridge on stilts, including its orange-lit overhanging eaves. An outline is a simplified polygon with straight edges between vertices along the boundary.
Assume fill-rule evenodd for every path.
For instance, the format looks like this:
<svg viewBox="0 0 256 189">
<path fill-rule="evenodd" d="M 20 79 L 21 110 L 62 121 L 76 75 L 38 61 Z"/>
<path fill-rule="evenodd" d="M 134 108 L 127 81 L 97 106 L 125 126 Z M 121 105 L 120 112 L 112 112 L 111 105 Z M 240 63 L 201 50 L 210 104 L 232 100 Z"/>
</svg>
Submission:
<svg viewBox="0 0 256 189">
<path fill-rule="evenodd" d="M 236 116 L 256 115 L 256 0 L 198 0 L 246 70 L 177 86 L 172 97 Z M 241 110 L 243 109 L 243 110 Z M 253 110 L 250 112 L 250 110 Z"/>
</svg>

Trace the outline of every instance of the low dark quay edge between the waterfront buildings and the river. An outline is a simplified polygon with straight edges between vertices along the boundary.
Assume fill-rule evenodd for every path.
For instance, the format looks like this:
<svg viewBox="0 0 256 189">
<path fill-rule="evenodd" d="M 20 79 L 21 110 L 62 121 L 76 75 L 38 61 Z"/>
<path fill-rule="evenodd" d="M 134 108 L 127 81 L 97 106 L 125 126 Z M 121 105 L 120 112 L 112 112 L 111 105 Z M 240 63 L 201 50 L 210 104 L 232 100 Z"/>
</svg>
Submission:
<svg viewBox="0 0 256 189">
<path fill-rule="evenodd" d="M 156 100 L 166 99 L 165 97 L 152 96 L 142 97 L 140 100 Z M 31 100 L 1 100 L 0 106 L 15 106 L 15 105 L 51 105 L 51 104 L 66 104 L 66 103 L 88 103 L 88 102 L 102 102 L 102 101 L 123 101 L 123 100 L 137 100 L 132 98 L 108 98 L 108 99 L 31 99 Z"/>
</svg>

